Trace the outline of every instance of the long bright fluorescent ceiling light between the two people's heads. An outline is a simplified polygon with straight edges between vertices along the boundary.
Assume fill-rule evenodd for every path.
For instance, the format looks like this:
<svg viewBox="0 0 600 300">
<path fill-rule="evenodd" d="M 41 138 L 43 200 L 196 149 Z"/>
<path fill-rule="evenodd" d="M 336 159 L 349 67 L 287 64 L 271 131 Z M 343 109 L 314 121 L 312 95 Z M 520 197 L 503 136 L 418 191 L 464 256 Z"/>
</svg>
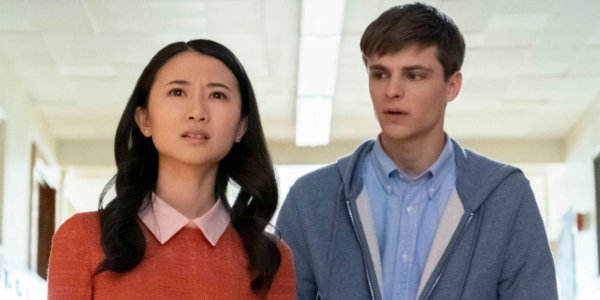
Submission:
<svg viewBox="0 0 600 300">
<path fill-rule="evenodd" d="M 302 1 L 296 145 L 329 144 L 344 0 Z"/>
</svg>

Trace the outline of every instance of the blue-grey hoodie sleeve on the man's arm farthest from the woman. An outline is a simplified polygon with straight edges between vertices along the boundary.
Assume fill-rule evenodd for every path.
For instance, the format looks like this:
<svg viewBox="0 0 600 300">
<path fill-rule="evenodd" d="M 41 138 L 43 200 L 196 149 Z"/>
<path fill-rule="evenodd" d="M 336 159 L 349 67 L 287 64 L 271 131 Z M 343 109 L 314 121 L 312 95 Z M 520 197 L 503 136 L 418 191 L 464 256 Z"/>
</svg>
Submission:
<svg viewBox="0 0 600 300">
<path fill-rule="evenodd" d="M 533 192 L 524 182 L 498 283 L 498 299 L 558 299 L 544 224 Z"/>
</svg>

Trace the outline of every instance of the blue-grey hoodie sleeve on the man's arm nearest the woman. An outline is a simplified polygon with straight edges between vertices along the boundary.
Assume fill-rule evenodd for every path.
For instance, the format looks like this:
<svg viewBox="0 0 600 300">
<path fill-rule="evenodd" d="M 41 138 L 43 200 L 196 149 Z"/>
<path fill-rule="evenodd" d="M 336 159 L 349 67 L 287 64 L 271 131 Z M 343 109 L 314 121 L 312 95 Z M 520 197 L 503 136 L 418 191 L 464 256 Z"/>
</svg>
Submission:
<svg viewBox="0 0 600 300">
<path fill-rule="evenodd" d="M 292 249 L 294 256 L 294 266 L 296 268 L 296 288 L 298 299 L 313 300 L 317 296 L 317 286 L 315 277 L 310 264 L 310 253 L 308 251 L 305 239 L 304 223 L 305 219 L 298 209 L 297 201 L 294 197 L 295 187 L 292 187 L 288 193 L 279 216 L 277 217 L 277 227 L 281 232 L 282 239 Z"/>
</svg>

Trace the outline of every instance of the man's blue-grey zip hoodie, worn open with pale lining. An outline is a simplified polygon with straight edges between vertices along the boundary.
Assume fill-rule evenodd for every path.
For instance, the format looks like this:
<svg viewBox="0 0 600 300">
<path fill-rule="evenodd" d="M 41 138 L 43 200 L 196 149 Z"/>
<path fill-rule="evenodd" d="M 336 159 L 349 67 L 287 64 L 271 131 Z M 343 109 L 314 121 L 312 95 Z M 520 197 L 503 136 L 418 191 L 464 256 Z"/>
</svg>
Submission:
<svg viewBox="0 0 600 300">
<path fill-rule="evenodd" d="M 452 143 L 456 189 L 419 299 L 558 299 L 544 224 L 523 173 Z M 298 299 L 382 299 L 360 169 L 373 144 L 301 177 L 283 203 L 277 226 L 294 253 Z"/>
</svg>

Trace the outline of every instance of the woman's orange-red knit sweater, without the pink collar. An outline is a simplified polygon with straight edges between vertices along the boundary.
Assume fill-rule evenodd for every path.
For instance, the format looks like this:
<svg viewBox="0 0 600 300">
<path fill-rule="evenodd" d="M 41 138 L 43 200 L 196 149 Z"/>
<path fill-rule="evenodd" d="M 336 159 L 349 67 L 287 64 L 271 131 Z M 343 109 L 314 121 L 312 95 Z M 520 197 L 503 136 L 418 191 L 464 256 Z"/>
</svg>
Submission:
<svg viewBox="0 0 600 300">
<path fill-rule="evenodd" d="M 98 214 L 67 220 L 52 240 L 49 299 L 258 299 L 250 288 L 242 241 L 229 225 L 213 247 L 185 227 L 161 245 L 142 225 L 146 254 L 125 274 L 94 270 L 104 258 Z M 266 299 L 295 299 L 293 258 L 280 242 L 281 265 Z"/>
</svg>

